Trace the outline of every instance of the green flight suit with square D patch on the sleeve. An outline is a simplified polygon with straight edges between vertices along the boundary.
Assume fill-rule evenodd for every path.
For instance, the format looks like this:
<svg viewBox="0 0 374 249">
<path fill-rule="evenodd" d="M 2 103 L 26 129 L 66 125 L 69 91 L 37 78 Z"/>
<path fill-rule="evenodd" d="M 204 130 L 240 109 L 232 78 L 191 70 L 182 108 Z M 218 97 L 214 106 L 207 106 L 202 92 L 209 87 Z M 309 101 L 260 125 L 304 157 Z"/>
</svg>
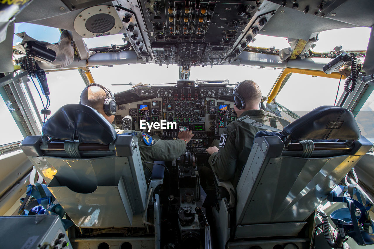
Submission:
<svg viewBox="0 0 374 249">
<path fill-rule="evenodd" d="M 248 110 L 240 117 L 246 115 L 260 123 L 269 121 L 264 110 Z M 230 181 L 236 187 L 251 152 L 254 137 L 260 130 L 263 129 L 251 126 L 239 119 L 227 124 L 217 146 L 220 150 L 209 157 L 209 164 L 215 167 L 219 179 Z"/>
</svg>

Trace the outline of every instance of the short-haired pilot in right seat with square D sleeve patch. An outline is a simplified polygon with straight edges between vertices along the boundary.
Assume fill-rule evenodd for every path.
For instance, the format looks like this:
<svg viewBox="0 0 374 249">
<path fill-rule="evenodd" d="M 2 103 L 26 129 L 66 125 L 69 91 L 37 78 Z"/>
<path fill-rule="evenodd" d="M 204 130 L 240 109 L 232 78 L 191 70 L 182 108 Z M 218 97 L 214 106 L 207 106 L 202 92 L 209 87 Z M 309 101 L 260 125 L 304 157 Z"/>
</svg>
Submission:
<svg viewBox="0 0 374 249">
<path fill-rule="evenodd" d="M 265 116 L 266 112 L 259 110 L 262 95 L 258 84 L 252 80 L 240 82 L 234 88 L 233 97 L 234 110 L 239 119 L 247 115 L 260 123 L 269 121 Z M 230 181 L 234 187 L 247 162 L 254 137 L 260 130 L 239 119 L 227 124 L 220 141 L 217 140 L 218 148 L 213 146 L 206 149 L 206 152 L 211 154 L 209 164 L 215 167 L 218 178 Z"/>
</svg>

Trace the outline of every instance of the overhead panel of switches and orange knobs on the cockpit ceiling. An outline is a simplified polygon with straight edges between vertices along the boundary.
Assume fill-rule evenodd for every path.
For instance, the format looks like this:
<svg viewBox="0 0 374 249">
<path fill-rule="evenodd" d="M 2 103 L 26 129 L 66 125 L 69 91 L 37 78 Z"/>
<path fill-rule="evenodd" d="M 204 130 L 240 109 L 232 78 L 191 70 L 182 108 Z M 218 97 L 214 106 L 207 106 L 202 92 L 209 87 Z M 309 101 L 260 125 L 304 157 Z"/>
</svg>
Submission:
<svg viewBox="0 0 374 249">
<path fill-rule="evenodd" d="M 126 0 L 117 2 L 120 9 L 130 12 L 136 12 L 137 4 L 140 4 L 154 62 L 180 66 L 232 62 L 280 6 L 266 0 L 145 0 L 133 1 L 130 8 Z M 140 19 L 138 15 L 136 17 Z M 131 18 L 128 16 L 127 20 Z M 128 31 L 131 30 L 132 27 Z M 129 39 L 134 44 L 131 36 L 139 34 L 131 32 Z M 142 30 L 139 32 L 144 36 Z"/>
</svg>

